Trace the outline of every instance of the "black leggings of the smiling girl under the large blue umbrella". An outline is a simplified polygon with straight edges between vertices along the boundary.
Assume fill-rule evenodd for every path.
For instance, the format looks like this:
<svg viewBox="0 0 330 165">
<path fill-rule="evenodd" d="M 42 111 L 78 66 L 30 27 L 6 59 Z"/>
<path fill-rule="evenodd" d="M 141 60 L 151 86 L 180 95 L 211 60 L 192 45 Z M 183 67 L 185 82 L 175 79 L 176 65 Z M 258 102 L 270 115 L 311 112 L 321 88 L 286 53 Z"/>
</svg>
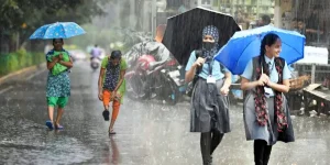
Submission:
<svg viewBox="0 0 330 165">
<path fill-rule="evenodd" d="M 254 141 L 254 163 L 255 165 L 267 165 L 273 145 L 267 145 L 264 140 Z"/>
</svg>

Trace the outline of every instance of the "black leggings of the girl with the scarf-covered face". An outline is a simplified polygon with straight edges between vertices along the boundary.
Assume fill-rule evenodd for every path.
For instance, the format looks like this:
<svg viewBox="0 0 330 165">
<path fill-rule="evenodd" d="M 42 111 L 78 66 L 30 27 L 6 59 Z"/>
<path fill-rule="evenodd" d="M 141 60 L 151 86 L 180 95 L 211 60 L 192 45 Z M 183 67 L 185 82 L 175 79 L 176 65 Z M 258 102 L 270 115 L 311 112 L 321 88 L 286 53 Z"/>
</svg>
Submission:
<svg viewBox="0 0 330 165">
<path fill-rule="evenodd" d="M 204 165 L 209 165 L 212 162 L 212 153 L 220 144 L 223 133 L 212 130 L 200 134 L 200 151 Z"/>
</svg>

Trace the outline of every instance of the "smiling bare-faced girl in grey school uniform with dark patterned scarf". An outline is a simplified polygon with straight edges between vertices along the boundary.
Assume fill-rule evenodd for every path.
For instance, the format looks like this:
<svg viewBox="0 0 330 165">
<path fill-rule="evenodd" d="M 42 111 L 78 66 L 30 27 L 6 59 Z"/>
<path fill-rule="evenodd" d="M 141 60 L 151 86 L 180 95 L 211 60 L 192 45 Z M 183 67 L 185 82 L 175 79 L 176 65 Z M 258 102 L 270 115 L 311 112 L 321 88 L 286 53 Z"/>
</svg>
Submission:
<svg viewBox="0 0 330 165">
<path fill-rule="evenodd" d="M 251 59 L 242 75 L 246 140 L 254 140 L 255 165 L 267 165 L 277 141 L 294 142 L 294 130 L 284 92 L 289 90 L 290 72 L 279 57 L 282 42 L 270 33 L 261 44 L 260 56 Z"/>
</svg>

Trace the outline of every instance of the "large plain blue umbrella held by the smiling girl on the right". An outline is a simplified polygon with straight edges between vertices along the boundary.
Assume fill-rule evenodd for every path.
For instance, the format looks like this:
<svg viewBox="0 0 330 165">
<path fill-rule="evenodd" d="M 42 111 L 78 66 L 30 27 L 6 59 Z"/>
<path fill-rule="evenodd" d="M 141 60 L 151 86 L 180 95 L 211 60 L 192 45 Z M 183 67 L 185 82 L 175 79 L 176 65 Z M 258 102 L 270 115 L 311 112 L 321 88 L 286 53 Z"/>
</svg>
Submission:
<svg viewBox="0 0 330 165">
<path fill-rule="evenodd" d="M 233 75 L 241 75 L 249 61 L 260 55 L 263 37 L 268 33 L 277 34 L 282 40 L 279 54 L 287 64 L 304 58 L 305 36 L 298 32 L 265 25 L 262 28 L 235 32 L 229 42 L 216 55 Z"/>
</svg>

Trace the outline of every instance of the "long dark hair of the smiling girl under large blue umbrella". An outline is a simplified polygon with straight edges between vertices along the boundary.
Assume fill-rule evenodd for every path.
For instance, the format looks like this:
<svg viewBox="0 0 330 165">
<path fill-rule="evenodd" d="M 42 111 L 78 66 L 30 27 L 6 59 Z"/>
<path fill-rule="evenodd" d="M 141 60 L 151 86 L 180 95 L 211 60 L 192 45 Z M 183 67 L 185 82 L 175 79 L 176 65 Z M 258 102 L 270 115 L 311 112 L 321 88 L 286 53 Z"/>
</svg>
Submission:
<svg viewBox="0 0 330 165">
<path fill-rule="evenodd" d="M 264 36 L 264 38 L 262 40 L 262 44 L 260 47 L 260 64 L 263 66 L 263 69 L 265 70 L 265 73 L 268 75 L 268 66 L 266 65 L 265 62 L 265 53 L 266 53 L 266 46 L 272 46 L 273 44 L 276 43 L 276 41 L 279 38 L 279 36 L 277 34 L 274 33 L 268 33 Z"/>
</svg>

